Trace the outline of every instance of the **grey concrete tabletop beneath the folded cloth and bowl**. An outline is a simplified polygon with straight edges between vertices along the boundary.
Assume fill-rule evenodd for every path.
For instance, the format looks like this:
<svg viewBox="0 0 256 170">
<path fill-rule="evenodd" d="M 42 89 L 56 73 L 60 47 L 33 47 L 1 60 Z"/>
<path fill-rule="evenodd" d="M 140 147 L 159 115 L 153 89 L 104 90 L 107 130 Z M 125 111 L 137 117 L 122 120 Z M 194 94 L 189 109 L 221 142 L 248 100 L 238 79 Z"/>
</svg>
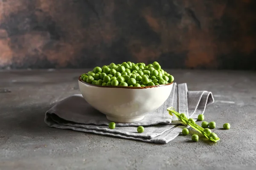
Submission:
<svg viewBox="0 0 256 170">
<path fill-rule="evenodd" d="M 240 170 L 256 167 L 256 72 L 169 70 L 189 90 L 212 91 L 205 112 L 218 143 L 178 136 L 168 144 L 50 128 L 44 113 L 78 94 L 86 70 L 0 71 L 0 170 Z M 220 127 L 225 122 L 230 130 Z"/>
</svg>

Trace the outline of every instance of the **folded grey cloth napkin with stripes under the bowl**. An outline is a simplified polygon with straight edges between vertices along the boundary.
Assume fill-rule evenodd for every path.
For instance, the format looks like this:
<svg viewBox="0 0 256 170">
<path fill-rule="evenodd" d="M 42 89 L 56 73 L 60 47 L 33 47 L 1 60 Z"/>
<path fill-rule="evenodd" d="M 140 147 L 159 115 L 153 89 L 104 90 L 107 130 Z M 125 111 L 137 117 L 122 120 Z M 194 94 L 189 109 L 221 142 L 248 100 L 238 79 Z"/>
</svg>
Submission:
<svg viewBox="0 0 256 170">
<path fill-rule="evenodd" d="M 105 114 L 91 107 L 81 94 L 69 96 L 56 103 L 45 114 L 44 121 L 49 127 L 71 129 L 81 132 L 116 136 L 143 142 L 168 143 L 175 139 L 184 126 L 176 116 L 170 116 L 166 110 L 174 107 L 187 117 L 197 119 L 204 114 L 207 105 L 214 102 L 211 92 L 188 91 L 186 83 L 174 83 L 172 92 L 164 104 L 148 113 L 139 122 L 116 123 L 115 129 L 108 128 L 109 120 Z M 138 126 L 144 126 L 143 133 L 137 132 Z"/>
</svg>

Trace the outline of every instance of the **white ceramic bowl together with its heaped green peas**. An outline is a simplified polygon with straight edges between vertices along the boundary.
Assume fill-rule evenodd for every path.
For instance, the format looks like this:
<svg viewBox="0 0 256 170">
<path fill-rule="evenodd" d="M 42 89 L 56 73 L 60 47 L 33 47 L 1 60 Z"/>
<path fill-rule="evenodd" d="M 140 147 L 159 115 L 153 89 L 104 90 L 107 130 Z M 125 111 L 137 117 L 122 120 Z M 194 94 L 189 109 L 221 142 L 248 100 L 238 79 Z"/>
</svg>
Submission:
<svg viewBox="0 0 256 170">
<path fill-rule="evenodd" d="M 129 123 L 159 108 L 169 97 L 174 77 L 158 62 L 123 62 L 95 67 L 79 76 L 84 99 L 112 122 Z"/>
</svg>

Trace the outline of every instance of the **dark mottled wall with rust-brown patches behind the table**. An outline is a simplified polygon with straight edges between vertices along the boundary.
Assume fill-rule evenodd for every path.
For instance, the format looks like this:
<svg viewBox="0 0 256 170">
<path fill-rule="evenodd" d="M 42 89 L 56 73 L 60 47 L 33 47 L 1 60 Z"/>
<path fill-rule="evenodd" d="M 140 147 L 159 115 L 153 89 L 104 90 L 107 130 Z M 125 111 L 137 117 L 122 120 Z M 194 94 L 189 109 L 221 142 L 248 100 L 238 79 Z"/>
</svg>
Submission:
<svg viewBox="0 0 256 170">
<path fill-rule="evenodd" d="M 256 0 L 0 0 L 0 68 L 256 69 Z"/>
</svg>

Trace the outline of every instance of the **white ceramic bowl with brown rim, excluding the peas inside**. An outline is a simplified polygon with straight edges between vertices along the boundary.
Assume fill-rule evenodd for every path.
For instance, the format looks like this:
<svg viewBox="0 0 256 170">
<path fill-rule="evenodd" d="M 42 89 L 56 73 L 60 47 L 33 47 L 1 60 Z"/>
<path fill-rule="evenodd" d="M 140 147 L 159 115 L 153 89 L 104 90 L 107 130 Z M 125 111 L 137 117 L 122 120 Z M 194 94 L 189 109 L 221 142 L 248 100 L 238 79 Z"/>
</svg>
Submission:
<svg viewBox="0 0 256 170">
<path fill-rule="evenodd" d="M 79 88 L 84 99 L 112 122 L 129 123 L 159 108 L 169 97 L 173 83 L 150 87 L 98 86 L 79 77 Z"/>
</svg>

